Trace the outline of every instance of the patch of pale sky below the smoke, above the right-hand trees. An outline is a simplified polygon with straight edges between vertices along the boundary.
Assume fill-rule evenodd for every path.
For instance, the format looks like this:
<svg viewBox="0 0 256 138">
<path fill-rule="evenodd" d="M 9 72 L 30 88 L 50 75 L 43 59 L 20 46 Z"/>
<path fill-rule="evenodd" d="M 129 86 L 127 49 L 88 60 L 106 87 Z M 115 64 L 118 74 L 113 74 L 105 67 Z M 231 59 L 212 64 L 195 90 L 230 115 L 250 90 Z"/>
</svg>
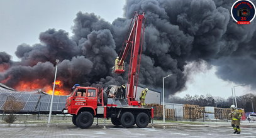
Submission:
<svg viewBox="0 0 256 138">
<path fill-rule="evenodd" d="M 218 78 L 216 73 L 216 66 L 212 66 L 211 69 L 206 69 L 206 65 L 202 65 L 201 72 L 194 72 L 189 75 L 189 80 L 186 83 L 186 90 L 183 90 L 176 95 L 184 97 L 189 95 L 213 95 L 215 97 L 230 97 L 232 95 L 231 88 L 237 85 L 233 82 L 227 82 Z M 246 93 L 255 93 L 249 86 L 235 87 L 235 93 L 237 96 Z"/>
</svg>

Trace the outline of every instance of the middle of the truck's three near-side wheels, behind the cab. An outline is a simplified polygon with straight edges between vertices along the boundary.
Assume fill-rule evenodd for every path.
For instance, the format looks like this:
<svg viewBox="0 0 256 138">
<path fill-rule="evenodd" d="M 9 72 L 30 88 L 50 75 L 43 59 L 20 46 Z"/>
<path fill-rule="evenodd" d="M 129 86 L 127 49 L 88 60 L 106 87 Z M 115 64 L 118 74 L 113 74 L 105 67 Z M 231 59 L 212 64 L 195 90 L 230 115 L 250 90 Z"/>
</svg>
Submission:
<svg viewBox="0 0 256 138">
<path fill-rule="evenodd" d="M 123 127 L 128 128 L 133 126 L 134 121 L 135 119 L 133 114 L 131 114 L 131 112 L 125 112 L 123 115 L 121 115 L 120 122 Z"/>
</svg>

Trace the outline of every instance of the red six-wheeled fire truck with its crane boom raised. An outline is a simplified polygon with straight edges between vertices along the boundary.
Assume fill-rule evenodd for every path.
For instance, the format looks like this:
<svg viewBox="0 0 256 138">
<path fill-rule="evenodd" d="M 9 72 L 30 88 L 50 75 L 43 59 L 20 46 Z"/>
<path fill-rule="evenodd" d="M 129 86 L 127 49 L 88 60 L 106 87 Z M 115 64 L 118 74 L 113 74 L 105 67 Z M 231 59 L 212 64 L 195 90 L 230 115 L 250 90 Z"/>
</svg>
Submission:
<svg viewBox="0 0 256 138">
<path fill-rule="evenodd" d="M 77 127 L 81 129 L 91 127 L 94 117 L 111 118 L 114 125 L 122 125 L 123 127 L 131 127 L 135 124 L 138 127 L 147 127 L 150 120 L 153 119 L 153 108 L 141 107 L 139 102 L 135 100 L 136 95 L 134 93 L 136 93 L 140 55 L 142 53 L 140 40 L 143 39 L 145 28 L 144 26 L 142 31 L 142 24 L 145 21 L 144 13 L 138 14 L 135 12 L 133 20 L 131 21 L 133 26 L 126 40 L 125 49 L 121 51 L 120 58 L 116 59 L 118 61 L 116 66 L 118 67 L 114 69 L 115 73 L 125 72 L 123 62 L 130 51 L 126 98 L 108 98 L 108 93 L 104 92 L 103 88 L 75 87 L 70 97 L 67 98 L 64 113 L 73 115 L 72 122 Z"/>
</svg>

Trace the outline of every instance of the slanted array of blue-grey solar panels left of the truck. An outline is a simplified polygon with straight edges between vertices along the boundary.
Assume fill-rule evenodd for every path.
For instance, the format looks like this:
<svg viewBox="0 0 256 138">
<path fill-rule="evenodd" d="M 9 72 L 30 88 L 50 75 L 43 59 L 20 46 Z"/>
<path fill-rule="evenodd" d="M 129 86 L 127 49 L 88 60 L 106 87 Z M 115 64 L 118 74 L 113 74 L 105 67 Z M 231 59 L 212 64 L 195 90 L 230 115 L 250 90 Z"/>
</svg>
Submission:
<svg viewBox="0 0 256 138">
<path fill-rule="evenodd" d="M 24 102 L 22 111 L 25 112 L 45 112 L 50 110 L 50 101 L 52 95 L 29 94 L 21 92 L 0 92 L 0 110 L 3 110 L 4 103 L 9 95 L 13 96 L 19 102 Z M 62 111 L 65 108 L 66 99 L 69 96 L 55 95 L 53 97 L 52 111 Z"/>
</svg>

